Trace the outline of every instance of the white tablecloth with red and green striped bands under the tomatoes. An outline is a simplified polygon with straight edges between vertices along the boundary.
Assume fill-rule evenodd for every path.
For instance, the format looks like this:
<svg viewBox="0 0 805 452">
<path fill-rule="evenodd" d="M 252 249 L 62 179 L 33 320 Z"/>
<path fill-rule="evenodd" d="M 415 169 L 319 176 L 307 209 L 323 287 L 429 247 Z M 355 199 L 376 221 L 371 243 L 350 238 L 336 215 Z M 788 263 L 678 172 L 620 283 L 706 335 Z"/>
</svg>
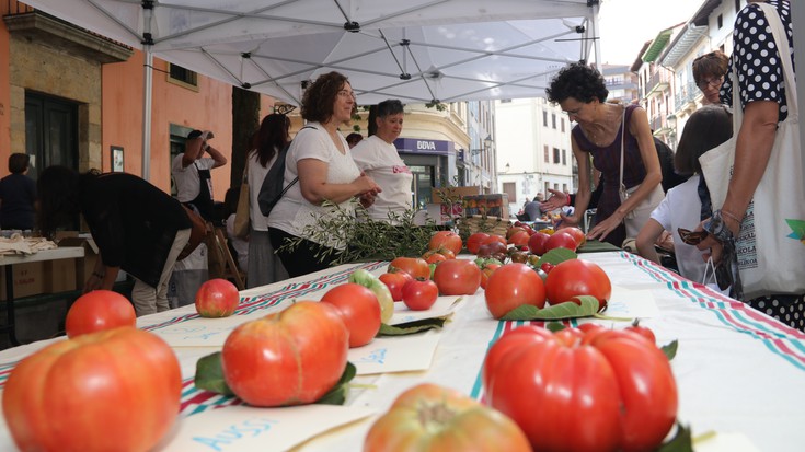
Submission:
<svg viewBox="0 0 805 452">
<path fill-rule="evenodd" d="M 679 386 L 678 418 L 692 428 L 693 436 L 714 431 L 716 439 L 736 439 L 761 451 L 802 449 L 805 443 L 805 429 L 802 428 L 805 425 L 805 391 L 801 390 L 805 382 L 805 334 L 632 254 L 600 252 L 584 254 L 582 258 L 600 265 L 613 286 L 651 293 L 659 314 L 643 318 L 641 324 L 655 332 L 660 345 L 679 341 L 677 356 L 671 361 Z M 386 265 L 345 265 L 242 291 L 241 310 L 267 312 L 281 309 L 294 299 L 318 300 L 333 286 L 345 282 L 354 269 L 380 274 Z M 138 326 L 159 335 L 160 331 L 194 316 L 193 306 L 184 306 L 140 317 Z M 614 328 L 629 325 L 618 321 L 595 322 Z M 568 325 L 576 323 L 566 322 Z M 461 300 L 452 322 L 445 325 L 428 370 L 359 375 L 353 382 L 367 385 L 350 389 L 346 404 L 368 407 L 379 415 L 401 392 L 425 381 L 483 399 L 480 370 L 486 350 L 497 337 L 521 324 L 524 322 L 494 321 L 486 310 L 483 291 L 479 290 Z M 0 385 L 15 362 L 53 340 L 64 338 L 0 352 Z M 196 361 L 215 348 L 176 347 L 175 350 L 185 381 L 182 419 L 221 405 L 220 397 L 205 395 L 192 383 Z M 300 450 L 360 450 L 373 418 L 317 437 Z M 4 425 L 0 427 L 0 450 L 13 450 Z"/>
</svg>

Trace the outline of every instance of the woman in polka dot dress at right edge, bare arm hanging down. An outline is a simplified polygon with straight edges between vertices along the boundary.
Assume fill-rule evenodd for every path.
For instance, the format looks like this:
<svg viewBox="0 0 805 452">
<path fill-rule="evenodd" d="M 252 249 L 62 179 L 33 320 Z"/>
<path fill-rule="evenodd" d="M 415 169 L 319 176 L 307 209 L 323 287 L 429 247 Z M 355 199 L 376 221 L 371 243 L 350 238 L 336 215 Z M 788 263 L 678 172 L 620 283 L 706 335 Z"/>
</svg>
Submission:
<svg viewBox="0 0 805 452">
<path fill-rule="evenodd" d="M 713 234 L 700 244 L 700 248 L 712 246 L 714 256 L 717 255 L 720 244 L 713 239 L 713 235 L 718 236 L 721 233 L 727 236 L 738 236 L 740 219 L 746 215 L 752 194 L 766 171 L 777 125 L 787 116 L 785 84 L 781 83 L 783 80 L 781 56 L 774 46 L 774 39 L 763 12 L 759 5 L 754 4 L 758 2 L 749 0 L 735 20 L 734 53 L 727 73 L 732 73 L 733 67 L 736 68 L 737 86 L 733 86 L 733 81 L 725 78 L 721 90 L 721 102 L 728 105 L 732 105 L 733 90 L 738 90 L 740 105 L 744 108 L 744 121 L 740 130 L 736 130 L 738 140 L 733 173 L 733 181 L 740 183 L 729 185 L 724 206 L 720 211 L 713 212 L 713 221 L 710 222 L 713 229 L 710 232 Z M 780 14 L 791 46 L 791 55 L 783 57 L 791 58 L 793 63 L 794 43 L 789 1 L 767 0 L 766 2 L 774 7 Z M 802 201 L 805 202 L 805 199 Z M 721 228 L 716 228 L 718 223 Z M 801 271 L 802 278 L 805 279 L 805 268 L 796 270 Z M 792 327 L 805 331 L 805 294 L 769 293 L 747 300 L 747 303 Z"/>
</svg>

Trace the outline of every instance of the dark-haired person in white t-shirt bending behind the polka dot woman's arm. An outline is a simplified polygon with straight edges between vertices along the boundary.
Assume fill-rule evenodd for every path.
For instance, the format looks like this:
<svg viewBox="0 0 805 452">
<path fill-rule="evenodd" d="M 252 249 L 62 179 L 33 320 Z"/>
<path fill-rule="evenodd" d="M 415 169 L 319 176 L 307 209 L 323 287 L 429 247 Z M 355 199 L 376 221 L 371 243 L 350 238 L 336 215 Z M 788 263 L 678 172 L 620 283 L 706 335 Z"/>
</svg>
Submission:
<svg viewBox="0 0 805 452">
<path fill-rule="evenodd" d="M 733 136 L 733 118 L 723 105 L 708 105 L 694 112 L 682 130 L 682 137 L 674 157 L 674 167 L 678 174 L 692 174 L 688 181 L 671 188 L 665 199 L 652 212 L 651 219 L 637 234 L 637 252 L 641 256 L 659 264 L 654 243 L 663 231 L 674 236 L 674 253 L 677 257 L 679 274 L 694 282 L 703 281 L 705 252 L 682 242 L 679 228 L 693 231 L 702 217 L 702 197 L 710 202 L 706 185 L 700 178 L 702 171 L 699 157 Z M 701 187 L 700 187 L 701 186 Z"/>
</svg>

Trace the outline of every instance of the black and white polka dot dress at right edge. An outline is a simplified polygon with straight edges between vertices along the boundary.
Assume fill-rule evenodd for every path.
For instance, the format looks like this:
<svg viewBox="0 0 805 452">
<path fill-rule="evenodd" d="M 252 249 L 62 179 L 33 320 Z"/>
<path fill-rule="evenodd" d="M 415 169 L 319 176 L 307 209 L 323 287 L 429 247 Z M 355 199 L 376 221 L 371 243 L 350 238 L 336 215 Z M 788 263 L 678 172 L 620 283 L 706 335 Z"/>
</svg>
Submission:
<svg viewBox="0 0 805 452">
<path fill-rule="evenodd" d="M 767 3 L 773 5 L 780 13 L 791 46 L 791 55 L 786 58 L 791 58 L 793 62 L 794 43 L 789 1 L 768 0 Z M 733 72 L 733 67 L 737 69 L 740 107 L 746 108 L 747 104 L 755 101 L 773 101 L 780 104 L 779 120 L 785 119 L 787 107 L 780 53 L 774 46 L 774 38 L 766 16 L 757 4 L 747 4 L 735 19 L 733 47 L 727 74 Z M 722 84 L 721 102 L 733 104 L 733 81 L 729 77 L 726 77 Z M 749 300 L 747 303 L 794 328 L 805 331 L 803 294 L 770 294 Z"/>
</svg>

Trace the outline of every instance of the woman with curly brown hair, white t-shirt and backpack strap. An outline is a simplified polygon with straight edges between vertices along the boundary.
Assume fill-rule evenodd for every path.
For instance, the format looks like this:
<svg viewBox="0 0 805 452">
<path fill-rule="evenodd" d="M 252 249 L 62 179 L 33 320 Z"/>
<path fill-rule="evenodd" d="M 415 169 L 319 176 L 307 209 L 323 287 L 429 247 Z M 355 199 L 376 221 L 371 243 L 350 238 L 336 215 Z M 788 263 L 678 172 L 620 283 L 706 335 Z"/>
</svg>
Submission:
<svg viewBox="0 0 805 452">
<path fill-rule="evenodd" d="M 284 185 L 292 185 L 268 216 L 272 245 L 291 277 L 327 268 L 330 260 L 322 262 L 322 256 L 335 257 L 333 253 L 346 246 L 322 239 L 323 234 L 310 235 L 310 228 L 336 215 L 336 208 L 324 201 L 352 211 L 353 198 L 368 207 L 380 193 L 378 184 L 355 164 L 338 131 L 355 111 L 355 93 L 338 72 L 320 76 L 304 91 L 301 114 L 308 124 L 294 138 L 285 160 Z M 295 237 L 303 241 L 294 251 L 280 248 L 286 239 Z"/>
</svg>

